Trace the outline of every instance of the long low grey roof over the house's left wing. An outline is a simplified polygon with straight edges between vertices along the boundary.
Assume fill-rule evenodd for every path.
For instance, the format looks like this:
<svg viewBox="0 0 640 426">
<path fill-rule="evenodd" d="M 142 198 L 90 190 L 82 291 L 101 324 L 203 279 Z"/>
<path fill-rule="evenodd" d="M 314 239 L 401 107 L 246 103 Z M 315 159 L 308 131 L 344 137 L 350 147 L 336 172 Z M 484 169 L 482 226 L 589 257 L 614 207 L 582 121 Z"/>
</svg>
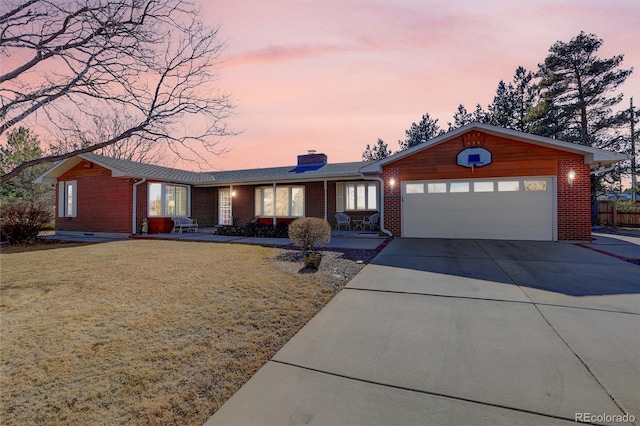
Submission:
<svg viewBox="0 0 640 426">
<path fill-rule="evenodd" d="M 304 181 L 331 178 L 357 178 L 360 177 L 360 168 L 367 163 L 335 163 L 325 164 L 321 167 L 286 166 L 264 169 L 230 170 L 220 172 L 190 172 L 173 169 L 170 167 L 156 166 L 153 164 L 138 163 L 130 160 L 105 157 L 97 154 L 79 154 L 75 157 L 62 160 L 44 175 L 37 178 L 35 183 L 55 183 L 57 178 L 66 171 L 80 164 L 82 160 L 91 161 L 99 166 L 111 170 L 111 176 L 132 179 L 151 179 L 174 183 L 186 183 L 196 186 L 215 186 L 218 184 L 233 183 L 260 183 Z"/>
</svg>

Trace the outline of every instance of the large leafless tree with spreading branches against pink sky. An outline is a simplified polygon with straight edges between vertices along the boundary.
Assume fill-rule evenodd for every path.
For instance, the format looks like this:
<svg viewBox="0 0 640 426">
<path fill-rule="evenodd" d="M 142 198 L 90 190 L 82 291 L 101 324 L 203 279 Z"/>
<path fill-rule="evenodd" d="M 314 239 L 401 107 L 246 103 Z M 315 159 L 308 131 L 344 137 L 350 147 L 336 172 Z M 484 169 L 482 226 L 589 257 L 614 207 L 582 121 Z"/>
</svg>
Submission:
<svg viewBox="0 0 640 426">
<path fill-rule="evenodd" d="M 218 28 L 184 0 L 4 0 L 0 134 L 29 120 L 55 129 L 69 149 L 0 182 L 121 141 L 181 157 L 219 153 L 232 110 L 214 85 L 222 48 Z M 114 117 L 126 120 L 104 125 Z"/>
</svg>

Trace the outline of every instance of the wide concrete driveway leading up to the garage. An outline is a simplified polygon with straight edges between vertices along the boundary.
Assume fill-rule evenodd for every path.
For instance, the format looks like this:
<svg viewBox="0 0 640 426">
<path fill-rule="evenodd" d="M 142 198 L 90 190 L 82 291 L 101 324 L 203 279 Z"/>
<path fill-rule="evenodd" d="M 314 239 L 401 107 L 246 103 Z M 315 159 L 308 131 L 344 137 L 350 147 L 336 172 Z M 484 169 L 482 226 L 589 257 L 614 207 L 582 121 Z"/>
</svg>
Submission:
<svg viewBox="0 0 640 426">
<path fill-rule="evenodd" d="M 207 425 L 634 418 L 639 266 L 567 243 L 397 239 Z"/>
</svg>

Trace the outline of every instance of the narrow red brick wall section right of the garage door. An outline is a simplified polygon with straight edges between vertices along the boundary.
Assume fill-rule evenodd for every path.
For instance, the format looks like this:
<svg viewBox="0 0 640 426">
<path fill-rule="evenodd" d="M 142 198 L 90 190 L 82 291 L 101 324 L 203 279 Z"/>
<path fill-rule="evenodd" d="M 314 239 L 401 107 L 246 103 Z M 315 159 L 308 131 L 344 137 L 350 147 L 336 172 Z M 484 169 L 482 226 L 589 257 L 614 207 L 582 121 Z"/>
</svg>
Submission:
<svg viewBox="0 0 640 426">
<path fill-rule="evenodd" d="M 576 174 L 573 185 L 568 174 Z M 582 159 L 558 160 L 558 240 L 591 239 L 591 176 Z"/>
</svg>

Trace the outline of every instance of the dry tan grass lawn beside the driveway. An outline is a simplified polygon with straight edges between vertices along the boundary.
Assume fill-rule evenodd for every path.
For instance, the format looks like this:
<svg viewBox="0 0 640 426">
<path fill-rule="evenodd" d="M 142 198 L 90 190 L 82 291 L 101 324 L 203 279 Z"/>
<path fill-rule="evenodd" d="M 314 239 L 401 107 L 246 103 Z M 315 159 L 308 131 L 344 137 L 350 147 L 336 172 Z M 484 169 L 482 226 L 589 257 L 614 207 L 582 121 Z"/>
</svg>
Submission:
<svg viewBox="0 0 640 426">
<path fill-rule="evenodd" d="M 276 249 L 44 248 L 0 254 L 3 425 L 202 424 L 333 296 Z"/>
</svg>

